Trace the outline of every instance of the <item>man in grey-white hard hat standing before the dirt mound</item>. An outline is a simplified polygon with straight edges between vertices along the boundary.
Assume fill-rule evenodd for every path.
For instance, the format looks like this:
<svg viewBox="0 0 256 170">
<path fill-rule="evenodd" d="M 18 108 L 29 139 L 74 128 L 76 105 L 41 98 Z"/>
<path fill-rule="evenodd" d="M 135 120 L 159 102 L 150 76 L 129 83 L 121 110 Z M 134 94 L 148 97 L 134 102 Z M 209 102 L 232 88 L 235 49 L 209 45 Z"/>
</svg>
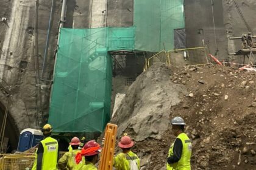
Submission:
<svg viewBox="0 0 256 170">
<path fill-rule="evenodd" d="M 190 170 L 191 140 L 184 133 L 185 122 L 181 117 L 171 120 L 172 133 L 176 140 L 171 144 L 167 158 L 167 170 Z"/>
</svg>

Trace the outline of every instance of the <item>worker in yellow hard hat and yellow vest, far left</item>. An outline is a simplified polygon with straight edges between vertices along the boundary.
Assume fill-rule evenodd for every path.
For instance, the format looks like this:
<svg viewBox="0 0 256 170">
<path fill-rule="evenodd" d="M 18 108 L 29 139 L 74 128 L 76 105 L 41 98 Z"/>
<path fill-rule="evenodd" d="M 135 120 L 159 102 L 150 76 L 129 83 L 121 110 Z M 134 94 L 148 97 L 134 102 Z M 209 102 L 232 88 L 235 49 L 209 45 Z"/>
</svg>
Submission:
<svg viewBox="0 0 256 170">
<path fill-rule="evenodd" d="M 33 166 L 33 170 L 57 170 L 58 160 L 58 141 L 51 138 L 52 126 L 45 124 L 41 129 L 44 135 L 44 140 L 41 140 L 38 144 L 36 160 Z"/>
</svg>

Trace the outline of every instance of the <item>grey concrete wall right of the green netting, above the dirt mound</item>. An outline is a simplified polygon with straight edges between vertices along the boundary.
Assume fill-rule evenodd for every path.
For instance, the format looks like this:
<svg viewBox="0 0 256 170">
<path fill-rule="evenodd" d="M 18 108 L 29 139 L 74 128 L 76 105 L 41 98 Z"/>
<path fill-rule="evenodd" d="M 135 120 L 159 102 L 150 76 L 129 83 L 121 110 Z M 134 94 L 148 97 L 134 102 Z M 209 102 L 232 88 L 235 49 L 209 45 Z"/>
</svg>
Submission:
<svg viewBox="0 0 256 170">
<path fill-rule="evenodd" d="M 256 1 L 236 0 L 241 12 L 250 25 L 252 32 L 256 34 L 256 22 L 254 21 Z M 239 56 L 229 58 L 228 53 L 241 49 L 240 40 L 229 40 L 230 36 L 241 36 L 248 30 L 241 19 L 233 0 L 185 0 L 185 24 L 187 32 L 187 46 L 202 46 L 202 39 L 209 47 L 210 53 L 216 55 L 220 60 L 236 60 Z M 213 5 L 213 12 L 212 12 Z M 213 15 L 215 19 L 215 33 L 213 29 Z"/>
</svg>

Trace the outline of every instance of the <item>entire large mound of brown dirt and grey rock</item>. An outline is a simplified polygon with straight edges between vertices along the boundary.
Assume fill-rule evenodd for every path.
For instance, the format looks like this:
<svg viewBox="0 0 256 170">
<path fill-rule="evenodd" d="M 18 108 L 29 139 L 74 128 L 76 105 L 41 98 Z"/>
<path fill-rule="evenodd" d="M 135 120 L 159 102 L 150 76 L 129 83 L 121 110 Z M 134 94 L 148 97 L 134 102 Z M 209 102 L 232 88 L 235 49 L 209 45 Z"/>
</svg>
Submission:
<svg viewBox="0 0 256 170">
<path fill-rule="evenodd" d="M 174 140 L 169 119 L 178 115 L 193 140 L 192 169 L 255 169 L 255 82 L 255 72 L 232 67 L 157 65 L 132 84 L 114 122 L 119 135 L 128 132 L 137 141 L 134 151 L 145 169 L 165 168 Z"/>
</svg>

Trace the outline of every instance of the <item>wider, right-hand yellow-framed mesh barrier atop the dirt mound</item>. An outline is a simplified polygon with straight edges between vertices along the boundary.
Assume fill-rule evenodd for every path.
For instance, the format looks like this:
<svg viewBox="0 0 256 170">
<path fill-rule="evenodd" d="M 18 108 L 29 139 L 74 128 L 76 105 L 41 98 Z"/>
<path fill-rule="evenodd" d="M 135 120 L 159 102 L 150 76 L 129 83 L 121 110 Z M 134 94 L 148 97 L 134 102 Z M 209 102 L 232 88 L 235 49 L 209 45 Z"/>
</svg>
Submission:
<svg viewBox="0 0 256 170">
<path fill-rule="evenodd" d="M 190 66 L 208 64 L 207 47 L 196 47 L 191 49 L 169 50 L 167 52 L 170 64 L 173 66 Z"/>
</svg>

